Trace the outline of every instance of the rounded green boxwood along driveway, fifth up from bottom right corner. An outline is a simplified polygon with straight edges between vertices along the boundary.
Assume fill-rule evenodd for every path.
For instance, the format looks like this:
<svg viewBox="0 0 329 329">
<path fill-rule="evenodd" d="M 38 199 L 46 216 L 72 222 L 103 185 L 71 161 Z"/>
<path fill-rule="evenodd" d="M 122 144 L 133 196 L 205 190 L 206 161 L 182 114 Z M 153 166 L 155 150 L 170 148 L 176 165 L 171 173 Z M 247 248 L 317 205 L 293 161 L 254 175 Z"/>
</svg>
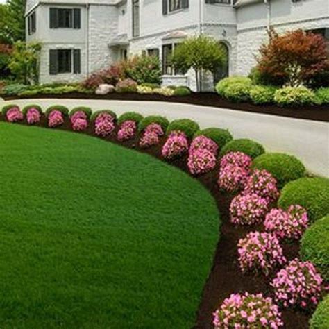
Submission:
<svg viewBox="0 0 329 329">
<path fill-rule="evenodd" d="M 257 158 L 259 155 L 265 153 L 264 147 L 253 140 L 241 138 L 239 140 L 231 140 L 221 149 L 221 157 L 229 152 L 243 152 L 251 158 Z"/>
</svg>

